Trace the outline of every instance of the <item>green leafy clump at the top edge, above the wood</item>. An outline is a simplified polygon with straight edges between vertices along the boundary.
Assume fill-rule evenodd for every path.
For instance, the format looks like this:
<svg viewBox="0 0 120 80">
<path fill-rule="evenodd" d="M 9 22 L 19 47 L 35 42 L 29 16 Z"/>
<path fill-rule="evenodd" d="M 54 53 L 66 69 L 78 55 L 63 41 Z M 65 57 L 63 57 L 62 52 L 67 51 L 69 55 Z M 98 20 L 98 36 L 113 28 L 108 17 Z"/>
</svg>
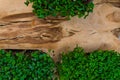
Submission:
<svg viewBox="0 0 120 80">
<path fill-rule="evenodd" d="M 94 8 L 92 0 L 26 0 L 25 4 L 29 3 L 32 3 L 33 12 L 39 18 L 75 15 L 86 17 Z"/>
</svg>

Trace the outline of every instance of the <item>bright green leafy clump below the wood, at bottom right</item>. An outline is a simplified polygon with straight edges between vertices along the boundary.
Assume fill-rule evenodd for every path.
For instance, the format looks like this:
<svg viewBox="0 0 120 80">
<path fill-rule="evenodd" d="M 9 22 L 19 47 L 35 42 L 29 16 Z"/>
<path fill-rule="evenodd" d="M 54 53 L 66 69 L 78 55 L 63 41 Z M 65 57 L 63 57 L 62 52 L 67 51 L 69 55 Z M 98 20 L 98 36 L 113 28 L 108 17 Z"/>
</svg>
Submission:
<svg viewBox="0 0 120 80">
<path fill-rule="evenodd" d="M 120 80 L 120 54 L 114 51 L 84 54 L 77 47 L 62 55 L 58 70 L 60 80 Z"/>
</svg>

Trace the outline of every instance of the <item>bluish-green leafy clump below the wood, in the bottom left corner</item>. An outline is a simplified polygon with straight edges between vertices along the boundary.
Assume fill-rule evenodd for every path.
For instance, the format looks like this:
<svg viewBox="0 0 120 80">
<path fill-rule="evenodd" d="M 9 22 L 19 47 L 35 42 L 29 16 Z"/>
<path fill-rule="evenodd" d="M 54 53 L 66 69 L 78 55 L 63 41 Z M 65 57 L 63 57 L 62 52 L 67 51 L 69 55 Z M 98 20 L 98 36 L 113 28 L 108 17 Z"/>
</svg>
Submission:
<svg viewBox="0 0 120 80">
<path fill-rule="evenodd" d="M 39 51 L 31 55 L 0 50 L 0 80 L 52 80 L 54 62 Z"/>
</svg>

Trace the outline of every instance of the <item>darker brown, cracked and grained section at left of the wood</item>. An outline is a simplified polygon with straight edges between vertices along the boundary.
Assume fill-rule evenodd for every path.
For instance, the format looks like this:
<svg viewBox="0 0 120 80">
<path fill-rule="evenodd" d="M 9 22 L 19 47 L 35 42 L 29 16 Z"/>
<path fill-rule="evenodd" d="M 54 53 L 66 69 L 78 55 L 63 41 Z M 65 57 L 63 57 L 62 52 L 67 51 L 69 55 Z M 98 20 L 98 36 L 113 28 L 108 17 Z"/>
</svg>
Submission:
<svg viewBox="0 0 120 80">
<path fill-rule="evenodd" d="M 32 13 L 5 16 L 0 22 L 0 43 L 44 44 L 61 40 L 62 18 L 38 19 Z"/>
</svg>

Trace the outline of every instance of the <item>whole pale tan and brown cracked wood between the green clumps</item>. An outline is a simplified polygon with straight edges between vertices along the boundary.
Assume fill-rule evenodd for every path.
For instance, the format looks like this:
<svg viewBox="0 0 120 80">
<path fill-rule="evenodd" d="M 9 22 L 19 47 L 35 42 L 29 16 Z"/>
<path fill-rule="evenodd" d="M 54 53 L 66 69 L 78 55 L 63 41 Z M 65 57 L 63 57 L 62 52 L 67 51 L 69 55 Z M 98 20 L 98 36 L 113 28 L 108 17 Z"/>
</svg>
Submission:
<svg viewBox="0 0 120 80">
<path fill-rule="evenodd" d="M 119 0 L 107 0 L 109 3 L 95 0 L 94 12 L 86 19 L 75 16 L 68 21 L 61 17 L 38 19 L 24 1 L 0 0 L 1 49 L 52 49 L 54 53 L 49 54 L 54 59 L 76 45 L 86 52 L 97 49 L 120 51 Z"/>
</svg>

